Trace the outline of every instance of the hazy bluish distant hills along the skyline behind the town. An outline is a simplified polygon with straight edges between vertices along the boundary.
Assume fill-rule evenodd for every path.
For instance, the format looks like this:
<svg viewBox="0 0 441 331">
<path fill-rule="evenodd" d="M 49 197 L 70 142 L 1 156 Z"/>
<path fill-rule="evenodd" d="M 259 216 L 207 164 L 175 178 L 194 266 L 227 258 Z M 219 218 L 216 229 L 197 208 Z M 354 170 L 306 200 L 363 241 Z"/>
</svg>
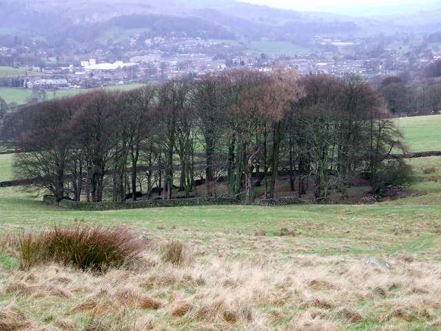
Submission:
<svg viewBox="0 0 441 331">
<path fill-rule="evenodd" d="M 441 30 L 439 5 L 421 5 L 417 12 L 411 6 L 407 10 L 394 8 L 397 14 L 393 17 L 367 18 L 281 10 L 233 0 L 3 0 L 0 34 L 37 35 L 58 47 L 67 39 L 81 43 L 103 38 L 112 28 L 147 28 L 156 37 L 178 31 L 190 37 L 233 40 Z M 391 12 L 393 8 L 372 13 Z"/>
</svg>

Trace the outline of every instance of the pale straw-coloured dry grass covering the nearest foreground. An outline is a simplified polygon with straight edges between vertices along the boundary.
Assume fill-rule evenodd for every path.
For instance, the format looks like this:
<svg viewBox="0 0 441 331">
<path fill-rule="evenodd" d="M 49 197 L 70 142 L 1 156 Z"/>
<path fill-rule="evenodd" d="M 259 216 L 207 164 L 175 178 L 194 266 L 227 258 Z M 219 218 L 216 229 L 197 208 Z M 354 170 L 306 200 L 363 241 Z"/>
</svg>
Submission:
<svg viewBox="0 0 441 331">
<path fill-rule="evenodd" d="M 0 330 L 440 328 L 441 265 L 418 254 L 385 257 L 388 270 L 360 255 L 286 259 L 281 240 L 298 237 L 215 237 L 208 248 L 203 237 L 151 236 L 131 269 L 83 272 L 61 263 L 3 273 Z"/>
</svg>

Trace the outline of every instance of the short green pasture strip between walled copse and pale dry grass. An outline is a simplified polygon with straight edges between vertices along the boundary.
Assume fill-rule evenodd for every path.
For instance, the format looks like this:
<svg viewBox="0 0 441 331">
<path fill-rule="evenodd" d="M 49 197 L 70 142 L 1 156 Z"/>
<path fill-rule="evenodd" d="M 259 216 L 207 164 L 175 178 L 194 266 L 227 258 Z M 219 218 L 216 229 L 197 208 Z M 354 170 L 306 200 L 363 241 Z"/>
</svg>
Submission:
<svg viewBox="0 0 441 331">
<path fill-rule="evenodd" d="M 439 205 L 290 205 L 265 208 L 245 205 L 193 206 L 87 212 L 44 205 L 41 199 L 0 189 L 0 227 L 6 232 L 32 231 L 54 224 L 114 226 L 126 224 L 166 238 L 202 237 L 206 243 L 219 234 L 231 237 L 278 237 L 291 246 L 286 254 L 395 254 L 422 252 L 441 261 Z M 418 221 L 416 221 L 418 220 Z M 281 229 L 294 237 L 282 236 Z M 263 233 L 263 234 L 262 234 Z M 238 248 L 247 250 L 240 243 Z M 349 250 L 342 250 L 349 245 Z M 372 245 L 382 249 L 373 252 Z M 249 248 L 248 248 L 249 249 Z"/>
</svg>

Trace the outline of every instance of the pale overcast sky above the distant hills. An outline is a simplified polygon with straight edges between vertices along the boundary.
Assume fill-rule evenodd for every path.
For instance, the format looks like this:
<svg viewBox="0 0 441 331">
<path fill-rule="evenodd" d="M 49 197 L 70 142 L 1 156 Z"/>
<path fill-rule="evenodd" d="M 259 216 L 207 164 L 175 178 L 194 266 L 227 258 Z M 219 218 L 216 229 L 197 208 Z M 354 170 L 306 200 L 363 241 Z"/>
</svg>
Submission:
<svg viewBox="0 0 441 331">
<path fill-rule="evenodd" d="M 306 10 L 314 12 L 342 12 L 347 10 L 358 10 L 362 8 L 373 8 L 380 6 L 393 6 L 400 4 L 418 3 L 441 3 L 440 0 L 238 0 L 242 2 L 267 5 L 274 8 Z"/>
</svg>

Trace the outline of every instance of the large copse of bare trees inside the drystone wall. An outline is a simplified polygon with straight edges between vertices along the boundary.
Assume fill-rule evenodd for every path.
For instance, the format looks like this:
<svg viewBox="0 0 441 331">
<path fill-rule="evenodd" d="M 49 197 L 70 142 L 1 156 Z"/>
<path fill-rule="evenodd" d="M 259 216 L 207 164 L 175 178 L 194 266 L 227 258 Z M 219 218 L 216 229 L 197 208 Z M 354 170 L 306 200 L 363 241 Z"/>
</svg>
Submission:
<svg viewBox="0 0 441 331">
<path fill-rule="evenodd" d="M 19 152 L 15 177 L 58 200 L 190 197 L 203 184 L 199 196 L 251 203 L 255 185 L 274 197 L 280 173 L 299 197 L 344 198 L 360 181 L 373 194 L 409 181 L 386 105 L 353 74 L 230 70 L 21 106 L 3 136 Z"/>
</svg>

